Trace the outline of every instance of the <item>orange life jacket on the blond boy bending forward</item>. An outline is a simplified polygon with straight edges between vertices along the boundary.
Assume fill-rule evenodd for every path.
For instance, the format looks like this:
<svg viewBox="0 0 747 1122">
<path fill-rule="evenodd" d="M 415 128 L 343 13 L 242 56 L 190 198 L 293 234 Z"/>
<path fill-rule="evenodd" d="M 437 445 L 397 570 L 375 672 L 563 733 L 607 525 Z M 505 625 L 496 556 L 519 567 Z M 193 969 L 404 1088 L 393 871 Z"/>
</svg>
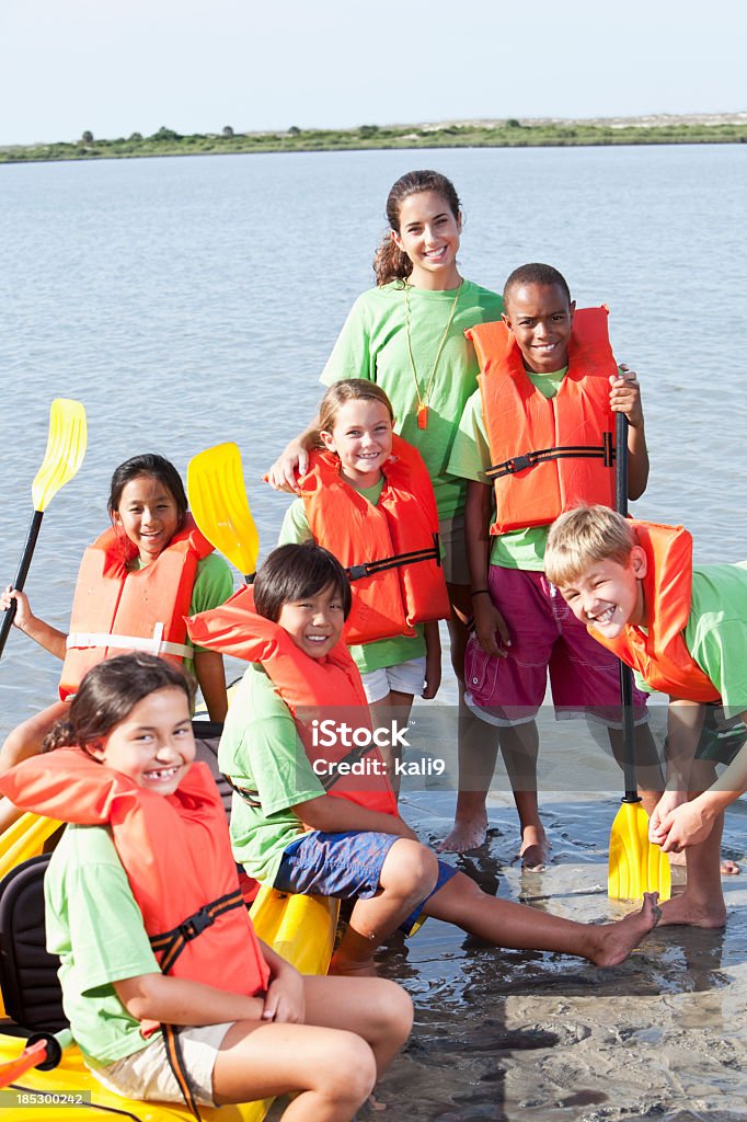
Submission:
<svg viewBox="0 0 747 1122">
<path fill-rule="evenodd" d="M 648 561 L 643 578 L 647 633 L 628 625 L 609 640 L 594 627 L 589 631 L 655 690 L 685 701 L 717 701 L 719 691 L 691 656 L 683 634 L 692 605 L 692 537 L 682 526 L 636 519 L 630 525 Z"/>
</svg>

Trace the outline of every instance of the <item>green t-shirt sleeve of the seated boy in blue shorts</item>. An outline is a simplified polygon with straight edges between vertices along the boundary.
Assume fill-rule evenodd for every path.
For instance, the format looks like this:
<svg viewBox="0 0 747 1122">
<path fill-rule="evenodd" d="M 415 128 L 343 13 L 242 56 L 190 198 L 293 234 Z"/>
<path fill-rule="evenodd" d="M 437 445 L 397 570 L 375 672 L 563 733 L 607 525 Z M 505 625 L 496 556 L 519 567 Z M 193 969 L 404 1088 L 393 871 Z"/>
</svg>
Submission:
<svg viewBox="0 0 747 1122">
<path fill-rule="evenodd" d="M 239 787 L 257 792 L 265 817 L 325 793 L 288 707 L 257 665 L 246 671 L 231 701 L 218 763 Z"/>
</svg>

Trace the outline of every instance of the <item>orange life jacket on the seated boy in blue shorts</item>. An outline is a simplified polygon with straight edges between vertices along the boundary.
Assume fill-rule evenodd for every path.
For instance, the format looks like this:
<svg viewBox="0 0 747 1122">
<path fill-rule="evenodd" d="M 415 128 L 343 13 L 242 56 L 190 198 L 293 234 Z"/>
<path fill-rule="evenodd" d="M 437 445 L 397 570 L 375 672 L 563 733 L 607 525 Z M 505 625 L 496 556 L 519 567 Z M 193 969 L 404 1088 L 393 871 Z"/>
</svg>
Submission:
<svg viewBox="0 0 747 1122">
<path fill-rule="evenodd" d="M 370 711 L 358 668 L 344 643 L 338 643 L 324 659 L 310 657 L 279 624 L 257 615 L 249 587 L 240 588 L 225 604 L 192 616 L 187 629 L 193 642 L 201 646 L 245 662 L 261 663 L 293 714 L 312 766 L 320 762 L 315 771 L 328 794 L 369 810 L 397 813 L 384 761 L 370 737 L 366 737 L 366 730 L 371 732 Z M 340 733 L 329 744 L 325 729 L 330 726 L 323 724 L 328 720 L 333 729 L 347 726 L 351 733 Z M 360 744 L 343 743 L 352 738 L 352 730 L 361 730 Z M 360 774 L 341 772 L 334 766 L 359 761 L 363 764 Z M 256 792 L 238 790 L 252 802 Z"/>
</svg>

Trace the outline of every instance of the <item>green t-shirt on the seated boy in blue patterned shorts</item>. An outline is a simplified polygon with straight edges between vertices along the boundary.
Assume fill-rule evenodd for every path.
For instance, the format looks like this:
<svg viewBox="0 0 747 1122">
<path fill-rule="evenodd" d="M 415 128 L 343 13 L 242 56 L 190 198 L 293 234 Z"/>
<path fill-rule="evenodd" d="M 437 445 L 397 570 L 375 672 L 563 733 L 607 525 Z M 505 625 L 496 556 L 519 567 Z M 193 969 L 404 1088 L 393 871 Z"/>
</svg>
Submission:
<svg viewBox="0 0 747 1122">
<path fill-rule="evenodd" d="M 233 792 L 233 857 L 250 876 L 273 884 L 286 846 L 304 833 L 293 807 L 325 791 L 290 710 L 259 664 L 248 668 L 231 699 L 218 765 L 237 787 L 257 792 L 259 807 Z"/>
</svg>

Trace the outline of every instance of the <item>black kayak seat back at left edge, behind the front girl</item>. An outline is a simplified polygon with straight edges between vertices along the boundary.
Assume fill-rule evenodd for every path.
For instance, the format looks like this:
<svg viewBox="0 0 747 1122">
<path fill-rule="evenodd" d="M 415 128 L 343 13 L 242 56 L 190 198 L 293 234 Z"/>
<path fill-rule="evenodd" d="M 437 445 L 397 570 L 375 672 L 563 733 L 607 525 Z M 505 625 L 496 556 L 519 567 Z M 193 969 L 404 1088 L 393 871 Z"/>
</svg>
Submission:
<svg viewBox="0 0 747 1122">
<path fill-rule="evenodd" d="M 49 854 L 22 862 L 0 881 L 0 990 L 6 1012 L 29 1031 L 67 1028 L 57 978 L 59 959 L 46 948 L 44 874 Z"/>
</svg>

